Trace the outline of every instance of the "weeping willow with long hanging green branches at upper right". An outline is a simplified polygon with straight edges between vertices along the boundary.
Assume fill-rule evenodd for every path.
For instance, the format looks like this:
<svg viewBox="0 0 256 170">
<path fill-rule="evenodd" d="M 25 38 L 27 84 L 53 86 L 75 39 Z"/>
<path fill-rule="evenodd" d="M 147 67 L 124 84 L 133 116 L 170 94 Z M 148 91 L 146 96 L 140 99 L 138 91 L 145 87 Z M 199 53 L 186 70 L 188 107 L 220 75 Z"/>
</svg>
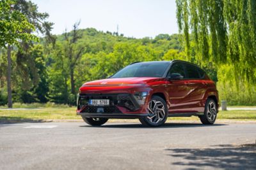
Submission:
<svg viewBox="0 0 256 170">
<path fill-rule="evenodd" d="M 179 31 L 190 57 L 233 67 L 232 76 L 256 82 L 256 0 L 176 0 Z M 237 82 L 237 81 L 236 81 Z"/>
</svg>

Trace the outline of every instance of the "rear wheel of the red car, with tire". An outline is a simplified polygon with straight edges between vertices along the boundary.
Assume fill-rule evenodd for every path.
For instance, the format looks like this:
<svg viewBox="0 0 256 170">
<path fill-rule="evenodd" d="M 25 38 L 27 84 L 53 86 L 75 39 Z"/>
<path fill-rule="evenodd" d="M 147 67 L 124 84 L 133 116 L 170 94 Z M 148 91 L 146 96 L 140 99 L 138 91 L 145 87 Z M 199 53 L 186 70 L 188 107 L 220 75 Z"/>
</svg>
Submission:
<svg viewBox="0 0 256 170">
<path fill-rule="evenodd" d="M 217 104 L 213 99 L 207 99 L 204 109 L 204 115 L 200 116 L 200 120 L 204 125 L 214 124 L 217 118 Z"/>
</svg>

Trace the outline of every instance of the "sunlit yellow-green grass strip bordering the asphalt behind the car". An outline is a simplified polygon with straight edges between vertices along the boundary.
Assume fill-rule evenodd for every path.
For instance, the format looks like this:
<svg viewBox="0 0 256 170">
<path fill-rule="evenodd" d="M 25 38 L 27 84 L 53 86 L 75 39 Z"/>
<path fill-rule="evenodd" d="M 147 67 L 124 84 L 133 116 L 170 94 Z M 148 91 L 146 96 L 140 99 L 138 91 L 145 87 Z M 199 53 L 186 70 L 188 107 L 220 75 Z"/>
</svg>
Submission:
<svg viewBox="0 0 256 170">
<path fill-rule="evenodd" d="M 0 110 L 0 122 L 12 120 L 45 121 L 45 120 L 81 120 L 76 115 L 76 108 L 40 108 L 33 110 Z M 170 117 L 168 120 L 198 120 L 198 117 Z M 218 120 L 255 120 L 256 110 L 220 111 Z"/>
</svg>

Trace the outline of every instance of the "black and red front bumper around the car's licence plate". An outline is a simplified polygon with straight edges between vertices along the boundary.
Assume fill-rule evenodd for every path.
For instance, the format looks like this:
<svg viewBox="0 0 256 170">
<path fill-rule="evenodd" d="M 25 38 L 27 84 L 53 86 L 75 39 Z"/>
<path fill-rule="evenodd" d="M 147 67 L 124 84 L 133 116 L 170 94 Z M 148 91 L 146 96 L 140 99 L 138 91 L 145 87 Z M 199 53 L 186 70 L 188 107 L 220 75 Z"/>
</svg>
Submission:
<svg viewBox="0 0 256 170">
<path fill-rule="evenodd" d="M 91 106 L 90 99 L 109 99 L 109 106 Z M 143 110 L 143 106 L 138 104 L 132 94 L 79 94 L 77 115 L 95 118 L 140 118 L 147 117 L 147 111 Z"/>
</svg>

